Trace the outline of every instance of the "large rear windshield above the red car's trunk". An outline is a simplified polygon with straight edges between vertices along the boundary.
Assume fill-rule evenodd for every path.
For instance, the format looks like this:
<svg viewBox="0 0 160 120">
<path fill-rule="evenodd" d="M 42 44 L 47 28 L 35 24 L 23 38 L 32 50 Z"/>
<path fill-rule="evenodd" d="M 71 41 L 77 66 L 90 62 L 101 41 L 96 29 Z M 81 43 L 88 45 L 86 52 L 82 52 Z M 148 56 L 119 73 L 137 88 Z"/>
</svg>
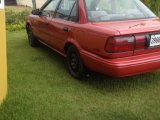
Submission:
<svg viewBox="0 0 160 120">
<path fill-rule="evenodd" d="M 156 17 L 140 0 L 85 0 L 85 4 L 92 22 Z"/>
</svg>

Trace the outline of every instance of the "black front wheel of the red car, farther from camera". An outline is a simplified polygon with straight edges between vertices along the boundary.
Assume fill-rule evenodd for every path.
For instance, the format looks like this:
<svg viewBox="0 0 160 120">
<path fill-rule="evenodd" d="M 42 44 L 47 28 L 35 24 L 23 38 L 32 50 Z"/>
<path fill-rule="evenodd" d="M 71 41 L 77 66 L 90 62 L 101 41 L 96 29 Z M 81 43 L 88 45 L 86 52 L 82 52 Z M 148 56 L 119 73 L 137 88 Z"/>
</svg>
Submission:
<svg viewBox="0 0 160 120">
<path fill-rule="evenodd" d="M 28 34 L 29 45 L 32 46 L 32 47 L 38 47 L 39 46 L 39 41 L 33 35 L 32 29 L 31 29 L 30 26 L 27 26 L 27 34 Z"/>
</svg>

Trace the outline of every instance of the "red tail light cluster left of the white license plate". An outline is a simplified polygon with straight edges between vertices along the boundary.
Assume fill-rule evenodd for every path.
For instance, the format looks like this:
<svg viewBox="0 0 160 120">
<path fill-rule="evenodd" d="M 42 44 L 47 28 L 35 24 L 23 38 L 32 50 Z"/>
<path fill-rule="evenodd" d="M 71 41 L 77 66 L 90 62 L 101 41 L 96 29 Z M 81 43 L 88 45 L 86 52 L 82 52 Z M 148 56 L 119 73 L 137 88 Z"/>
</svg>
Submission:
<svg viewBox="0 0 160 120">
<path fill-rule="evenodd" d="M 135 50 L 145 49 L 145 35 L 112 37 L 107 40 L 105 51 L 110 58 L 132 56 Z"/>
</svg>

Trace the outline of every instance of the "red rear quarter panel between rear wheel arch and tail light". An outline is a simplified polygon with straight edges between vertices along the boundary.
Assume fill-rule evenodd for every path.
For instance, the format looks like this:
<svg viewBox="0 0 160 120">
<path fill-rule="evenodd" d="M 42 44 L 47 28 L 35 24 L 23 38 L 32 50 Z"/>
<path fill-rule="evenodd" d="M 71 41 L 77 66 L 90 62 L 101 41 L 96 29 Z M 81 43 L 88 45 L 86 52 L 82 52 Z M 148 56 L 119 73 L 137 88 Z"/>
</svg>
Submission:
<svg viewBox="0 0 160 120">
<path fill-rule="evenodd" d="M 110 28 L 99 28 L 92 24 L 84 24 L 81 31 L 78 32 L 77 40 L 84 50 L 105 57 L 104 48 L 107 39 L 117 35 L 120 35 L 119 31 Z"/>
</svg>

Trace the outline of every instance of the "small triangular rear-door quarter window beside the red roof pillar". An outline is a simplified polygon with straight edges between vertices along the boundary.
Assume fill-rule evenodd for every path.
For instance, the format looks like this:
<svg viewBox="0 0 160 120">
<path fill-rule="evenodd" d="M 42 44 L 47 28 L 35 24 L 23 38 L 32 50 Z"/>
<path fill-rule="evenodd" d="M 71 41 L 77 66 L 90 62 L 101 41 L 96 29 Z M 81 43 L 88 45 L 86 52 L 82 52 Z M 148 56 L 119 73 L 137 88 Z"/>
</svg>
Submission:
<svg viewBox="0 0 160 120">
<path fill-rule="evenodd" d="M 78 21 L 78 5 L 77 2 L 74 4 L 72 12 L 69 17 L 69 21 L 77 22 Z"/>
</svg>

